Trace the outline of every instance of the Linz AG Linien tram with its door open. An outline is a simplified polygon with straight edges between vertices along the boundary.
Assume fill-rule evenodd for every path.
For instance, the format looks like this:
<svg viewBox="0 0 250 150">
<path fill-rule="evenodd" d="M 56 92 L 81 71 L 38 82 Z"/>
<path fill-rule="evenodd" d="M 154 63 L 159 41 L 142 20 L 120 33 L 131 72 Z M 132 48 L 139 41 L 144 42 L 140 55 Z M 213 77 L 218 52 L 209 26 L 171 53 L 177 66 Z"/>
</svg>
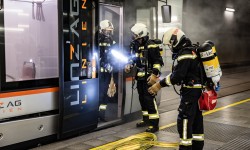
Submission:
<svg viewBox="0 0 250 150">
<path fill-rule="evenodd" d="M 119 50 L 125 51 L 122 6 L 97 0 L 1 0 L 0 9 L 0 149 L 78 136 L 122 123 L 140 110 L 137 92 L 131 92 L 132 75 L 120 69 L 107 121 L 98 119 L 103 91 L 95 33 L 100 20 L 112 20 Z"/>
</svg>

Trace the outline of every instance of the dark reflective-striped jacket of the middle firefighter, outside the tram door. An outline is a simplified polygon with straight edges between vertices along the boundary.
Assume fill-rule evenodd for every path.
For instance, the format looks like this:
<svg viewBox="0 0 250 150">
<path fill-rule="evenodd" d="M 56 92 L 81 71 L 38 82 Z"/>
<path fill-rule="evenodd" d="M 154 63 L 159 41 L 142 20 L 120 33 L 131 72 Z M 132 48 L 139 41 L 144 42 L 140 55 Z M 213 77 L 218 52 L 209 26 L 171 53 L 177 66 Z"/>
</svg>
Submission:
<svg viewBox="0 0 250 150">
<path fill-rule="evenodd" d="M 144 80 L 146 77 L 153 73 L 160 75 L 161 66 L 163 66 L 163 60 L 161 57 L 161 48 L 154 40 L 148 40 L 145 44 L 138 44 L 132 42 L 130 45 L 131 54 L 133 57 L 133 63 L 137 67 L 137 80 Z"/>
</svg>

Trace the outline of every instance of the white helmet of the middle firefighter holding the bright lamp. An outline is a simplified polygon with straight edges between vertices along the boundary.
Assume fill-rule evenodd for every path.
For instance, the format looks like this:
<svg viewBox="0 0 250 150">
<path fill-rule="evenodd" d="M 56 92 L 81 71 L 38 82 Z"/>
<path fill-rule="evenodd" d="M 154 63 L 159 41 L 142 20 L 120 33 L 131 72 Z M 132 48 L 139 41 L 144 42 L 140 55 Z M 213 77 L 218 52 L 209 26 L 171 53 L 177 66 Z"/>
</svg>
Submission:
<svg viewBox="0 0 250 150">
<path fill-rule="evenodd" d="M 134 34 L 135 39 L 142 38 L 148 36 L 147 26 L 143 23 L 136 23 L 131 28 L 132 33 Z"/>
</svg>

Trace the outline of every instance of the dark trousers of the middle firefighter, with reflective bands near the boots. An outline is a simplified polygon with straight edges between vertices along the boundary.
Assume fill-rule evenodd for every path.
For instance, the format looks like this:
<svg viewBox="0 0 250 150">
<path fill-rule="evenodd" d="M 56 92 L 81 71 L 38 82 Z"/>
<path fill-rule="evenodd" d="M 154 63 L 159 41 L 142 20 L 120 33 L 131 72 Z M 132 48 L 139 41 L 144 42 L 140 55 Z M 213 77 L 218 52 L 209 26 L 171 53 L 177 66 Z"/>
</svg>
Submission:
<svg viewBox="0 0 250 150">
<path fill-rule="evenodd" d="M 137 90 L 139 93 L 139 101 L 141 104 L 142 111 L 148 112 L 150 125 L 158 127 L 159 124 L 158 109 L 155 97 L 152 96 L 150 93 L 148 93 L 149 87 L 150 86 L 147 84 L 146 80 L 137 80 Z M 143 116 L 143 119 L 145 119 L 145 116 Z"/>
</svg>

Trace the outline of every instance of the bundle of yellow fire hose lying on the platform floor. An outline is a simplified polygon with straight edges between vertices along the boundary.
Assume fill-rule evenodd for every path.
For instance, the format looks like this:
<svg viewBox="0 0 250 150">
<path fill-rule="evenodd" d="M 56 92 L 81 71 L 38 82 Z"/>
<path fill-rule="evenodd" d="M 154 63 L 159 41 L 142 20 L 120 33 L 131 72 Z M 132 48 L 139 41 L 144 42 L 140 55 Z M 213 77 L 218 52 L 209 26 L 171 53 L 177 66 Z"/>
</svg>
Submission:
<svg viewBox="0 0 250 150">
<path fill-rule="evenodd" d="M 127 138 L 108 143 L 90 150 L 146 150 L 152 146 L 177 148 L 178 143 L 164 143 L 156 141 L 153 133 L 143 132 Z"/>
</svg>

